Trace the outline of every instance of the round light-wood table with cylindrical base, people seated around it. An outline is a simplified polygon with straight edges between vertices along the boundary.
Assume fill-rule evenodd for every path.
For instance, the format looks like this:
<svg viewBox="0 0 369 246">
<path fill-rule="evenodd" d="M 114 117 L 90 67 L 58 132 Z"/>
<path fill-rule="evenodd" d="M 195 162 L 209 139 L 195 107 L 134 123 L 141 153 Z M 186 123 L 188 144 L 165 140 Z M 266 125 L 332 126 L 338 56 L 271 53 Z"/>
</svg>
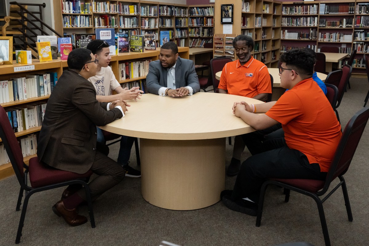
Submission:
<svg viewBox="0 0 369 246">
<path fill-rule="evenodd" d="M 225 137 L 255 131 L 232 114 L 252 98 L 198 92 L 183 98 L 144 94 L 126 116 L 102 129 L 140 138 L 141 192 L 167 209 L 208 207 L 225 187 Z"/>
</svg>

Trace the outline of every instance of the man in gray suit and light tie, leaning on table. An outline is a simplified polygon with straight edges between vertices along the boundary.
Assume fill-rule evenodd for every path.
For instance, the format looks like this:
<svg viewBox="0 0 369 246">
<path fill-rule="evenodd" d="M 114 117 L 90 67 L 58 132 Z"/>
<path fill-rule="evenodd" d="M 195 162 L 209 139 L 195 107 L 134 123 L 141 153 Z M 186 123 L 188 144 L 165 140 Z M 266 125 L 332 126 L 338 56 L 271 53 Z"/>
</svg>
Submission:
<svg viewBox="0 0 369 246">
<path fill-rule="evenodd" d="M 193 61 L 180 58 L 174 42 L 163 44 L 159 60 L 150 62 L 146 85 L 149 93 L 160 96 L 182 97 L 200 91 Z"/>
</svg>

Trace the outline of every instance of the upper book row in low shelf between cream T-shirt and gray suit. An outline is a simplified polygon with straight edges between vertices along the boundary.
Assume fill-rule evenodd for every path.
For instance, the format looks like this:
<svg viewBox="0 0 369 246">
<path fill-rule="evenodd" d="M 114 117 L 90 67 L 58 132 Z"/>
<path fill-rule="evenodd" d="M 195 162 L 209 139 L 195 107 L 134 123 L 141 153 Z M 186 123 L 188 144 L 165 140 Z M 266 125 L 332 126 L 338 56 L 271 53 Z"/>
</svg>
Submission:
<svg viewBox="0 0 369 246">
<path fill-rule="evenodd" d="M 149 73 L 150 62 L 151 60 L 137 60 L 119 63 L 119 80 L 146 76 Z"/>
</svg>

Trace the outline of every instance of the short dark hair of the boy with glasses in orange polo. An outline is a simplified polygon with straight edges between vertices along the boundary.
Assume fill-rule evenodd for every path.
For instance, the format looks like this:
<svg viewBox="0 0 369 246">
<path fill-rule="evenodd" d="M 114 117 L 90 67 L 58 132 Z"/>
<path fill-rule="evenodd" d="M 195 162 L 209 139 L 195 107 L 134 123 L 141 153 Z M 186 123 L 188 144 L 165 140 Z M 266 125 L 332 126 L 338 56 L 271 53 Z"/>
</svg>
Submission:
<svg viewBox="0 0 369 246">
<path fill-rule="evenodd" d="M 311 50 L 313 51 L 313 50 Z M 313 75 L 314 64 L 317 61 L 314 55 L 307 49 L 290 49 L 280 55 L 280 62 L 285 62 L 286 66 L 296 70 L 302 78 L 308 78 Z"/>
</svg>

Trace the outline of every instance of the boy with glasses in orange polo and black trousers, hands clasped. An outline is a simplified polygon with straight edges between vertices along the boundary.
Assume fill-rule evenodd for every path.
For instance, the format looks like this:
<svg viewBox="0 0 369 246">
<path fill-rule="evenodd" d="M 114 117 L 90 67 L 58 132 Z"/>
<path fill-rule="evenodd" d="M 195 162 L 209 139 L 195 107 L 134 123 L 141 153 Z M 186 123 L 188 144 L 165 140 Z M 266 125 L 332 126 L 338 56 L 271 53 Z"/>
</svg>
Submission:
<svg viewBox="0 0 369 246">
<path fill-rule="evenodd" d="M 242 163 L 234 190 L 221 193 L 228 208 L 254 216 L 265 179 L 324 180 L 342 135 L 327 97 L 312 79 L 314 56 L 305 49 L 293 49 L 280 61 L 280 85 L 289 90 L 278 101 L 233 106 L 234 114 L 256 130 L 281 123 L 284 131 L 285 142 L 261 146 L 264 152 Z"/>
</svg>

